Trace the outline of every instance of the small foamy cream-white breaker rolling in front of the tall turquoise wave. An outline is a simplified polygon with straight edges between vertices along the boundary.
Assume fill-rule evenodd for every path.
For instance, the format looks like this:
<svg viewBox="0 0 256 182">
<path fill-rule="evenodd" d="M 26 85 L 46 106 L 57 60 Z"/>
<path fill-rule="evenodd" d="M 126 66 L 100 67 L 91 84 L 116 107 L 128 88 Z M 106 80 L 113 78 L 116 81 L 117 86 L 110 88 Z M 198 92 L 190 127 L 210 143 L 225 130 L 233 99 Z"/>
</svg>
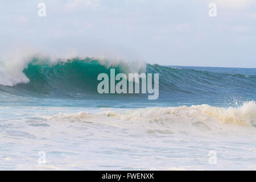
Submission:
<svg viewBox="0 0 256 182">
<path fill-rule="evenodd" d="M 100 118 L 99 118 L 100 117 Z M 210 129 L 210 122 L 232 124 L 237 126 L 254 126 L 256 127 L 256 102 L 246 102 L 240 107 L 213 107 L 209 105 L 195 105 L 191 107 L 148 107 L 142 109 L 130 109 L 125 111 L 105 111 L 104 113 L 72 113 L 58 114 L 44 117 L 49 120 L 73 121 L 73 122 L 113 122 L 116 118 L 128 121 L 156 122 L 162 123 L 164 126 L 170 125 L 172 122 L 185 122 L 193 125 L 205 126 Z M 196 124 L 195 124 L 196 123 Z"/>
</svg>

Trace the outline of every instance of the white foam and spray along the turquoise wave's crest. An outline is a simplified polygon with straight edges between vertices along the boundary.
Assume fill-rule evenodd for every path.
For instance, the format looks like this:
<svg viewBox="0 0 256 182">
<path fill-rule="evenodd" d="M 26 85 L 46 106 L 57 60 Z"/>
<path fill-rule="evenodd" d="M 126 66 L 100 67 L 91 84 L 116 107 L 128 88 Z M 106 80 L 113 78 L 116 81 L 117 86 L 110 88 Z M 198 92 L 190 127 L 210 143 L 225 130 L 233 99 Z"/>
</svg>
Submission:
<svg viewBox="0 0 256 182">
<path fill-rule="evenodd" d="M 85 59 L 86 56 L 81 56 L 75 52 L 66 54 L 53 54 L 43 53 L 36 51 L 32 48 L 22 48 L 11 53 L 7 53 L 5 56 L 1 56 L 0 59 L 0 85 L 14 86 L 20 83 L 29 82 L 29 78 L 23 73 L 23 70 L 27 68 L 33 58 L 37 58 L 40 63 L 56 64 L 59 61 L 67 62 L 67 60 L 78 57 L 79 59 Z M 132 59 L 122 58 L 119 55 L 104 55 L 98 54 L 90 56 L 94 60 L 98 60 L 98 63 L 104 65 L 106 68 L 117 67 L 121 65 L 124 71 L 127 73 L 146 72 L 146 63 L 141 57 L 133 57 Z"/>
</svg>

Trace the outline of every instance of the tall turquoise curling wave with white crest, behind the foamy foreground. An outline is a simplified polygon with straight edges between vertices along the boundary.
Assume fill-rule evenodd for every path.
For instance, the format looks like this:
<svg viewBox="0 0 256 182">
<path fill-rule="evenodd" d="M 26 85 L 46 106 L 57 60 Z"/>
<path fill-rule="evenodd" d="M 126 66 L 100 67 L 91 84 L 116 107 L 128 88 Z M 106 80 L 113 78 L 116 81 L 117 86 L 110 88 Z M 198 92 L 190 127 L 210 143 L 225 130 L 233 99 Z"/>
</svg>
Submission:
<svg viewBox="0 0 256 182">
<path fill-rule="evenodd" d="M 255 100 L 256 74 L 233 74 L 200 71 L 193 68 L 171 68 L 146 64 L 141 61 L 106 60 L 86 57 L 68 60 L 51 60 L 34 56 L 17 62 L 0 64 L 0 90 L 9 94 L 36 94 L 36 96 L 72 97 L 94 96 L 97 76 L 100 73 L 159 73 L 159 98 L 191 100 L 217 99 L 223 95 L 243 96 Z M 138 94 L 129 94 L 138 96 Z M 194 103 L 196 104 L 196 103 Z"/>
</svg>

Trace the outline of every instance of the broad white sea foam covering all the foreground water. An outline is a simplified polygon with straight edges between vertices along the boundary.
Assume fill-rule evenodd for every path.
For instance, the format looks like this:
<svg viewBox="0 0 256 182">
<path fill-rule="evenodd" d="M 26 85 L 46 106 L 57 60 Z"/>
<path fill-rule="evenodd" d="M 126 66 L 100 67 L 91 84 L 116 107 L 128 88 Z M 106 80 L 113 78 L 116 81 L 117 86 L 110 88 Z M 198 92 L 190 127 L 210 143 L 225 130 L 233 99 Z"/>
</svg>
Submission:
<svg viewBox="0 0 256 182">
<path fill-rule="evenodd" d="M 254 101 L 226 109 L 0 109 L 0 169 L 255 169 L 256 128 L 246 125 L 255 122 Z M 46 166 L 37 164 L 39 151 Z M 209 165 L 209 151 L 217 165 Z"/>
</svg>

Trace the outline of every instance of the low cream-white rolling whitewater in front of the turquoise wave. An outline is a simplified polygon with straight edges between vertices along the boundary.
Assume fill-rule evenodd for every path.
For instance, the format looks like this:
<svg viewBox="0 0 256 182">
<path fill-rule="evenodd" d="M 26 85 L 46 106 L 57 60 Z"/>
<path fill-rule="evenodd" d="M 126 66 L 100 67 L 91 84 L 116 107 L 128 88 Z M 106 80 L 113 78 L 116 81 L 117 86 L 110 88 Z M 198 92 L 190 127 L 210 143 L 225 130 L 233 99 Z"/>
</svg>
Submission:
<svg viewBox="0 0 256 182">
<path fill-rule="evenodd" d="M 42 116 L 43 119 L 59 122 L 85 122 L 117 127 L 133 127 L 139 129 L 177 129 L 201 131 L 225 129 L 225 126 L 256 127 L 256 103 L 246 102 L 241 107 L 213 107 L 209 105 L 195 105 L 191 107 L 147 107 L 129 109 L 125 111 L 105 111 L 90 114 L 59 113 L 53 116 Z M 146 123 L 145 123 L 146 122 Z M 145 129 L 146 129 L 145 128 Z M 226 128 L 228 129 L 228 128 Z M 233 127 L 231 127 L 233 130 Z M 175 130 L 176 131 L 176 130 Z"/>
</svg>

